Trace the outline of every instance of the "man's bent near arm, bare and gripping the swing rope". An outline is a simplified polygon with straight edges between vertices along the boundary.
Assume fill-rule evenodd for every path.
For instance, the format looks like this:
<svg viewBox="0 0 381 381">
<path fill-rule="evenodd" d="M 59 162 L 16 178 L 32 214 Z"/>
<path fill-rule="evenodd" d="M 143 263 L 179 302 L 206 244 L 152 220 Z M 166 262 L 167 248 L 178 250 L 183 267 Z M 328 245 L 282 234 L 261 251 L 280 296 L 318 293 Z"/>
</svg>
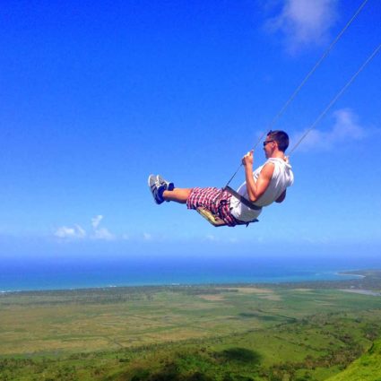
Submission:
<svg viewBox="0 0 381 381">
<path fill-rule="evenodd" d="M 247 195 L 252 203 L 255 203 L 261 195 L 264 194 L 273 178 L 274 165 L 267 163 L 261 170 L 258 179 L 255 181 L 253 177 L 253 152 L 248 152 L 242 159 L 245 166 L 245 177 L 247 185 Z"/>
</svg>

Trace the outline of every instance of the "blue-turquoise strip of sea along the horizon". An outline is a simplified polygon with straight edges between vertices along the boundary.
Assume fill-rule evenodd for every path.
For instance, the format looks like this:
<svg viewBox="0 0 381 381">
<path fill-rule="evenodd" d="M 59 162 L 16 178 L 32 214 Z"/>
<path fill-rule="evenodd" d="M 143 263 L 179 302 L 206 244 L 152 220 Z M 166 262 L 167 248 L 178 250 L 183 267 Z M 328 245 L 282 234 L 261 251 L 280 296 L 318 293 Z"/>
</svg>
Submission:
<svg viewBox="0 0 381 381">
<path fill-rule="evenodd" d="M 340 272 L 379 268 L 377 260 L 266 257 L 134 257 L 7 259 L 0 264 L 0 291 L 62 290 L 111 286 L 232 282 L 329 281 Z"/>
</svg>

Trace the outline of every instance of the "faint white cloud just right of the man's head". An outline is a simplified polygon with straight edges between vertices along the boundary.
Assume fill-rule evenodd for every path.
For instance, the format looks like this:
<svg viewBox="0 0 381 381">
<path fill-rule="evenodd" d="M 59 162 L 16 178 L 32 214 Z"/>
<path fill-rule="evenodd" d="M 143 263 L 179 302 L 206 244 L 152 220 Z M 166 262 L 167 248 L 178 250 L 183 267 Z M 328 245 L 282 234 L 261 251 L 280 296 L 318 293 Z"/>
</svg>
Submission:
<svg viewBox="0 0 381 381">
<path fill-rule="evenodd" d="M 311 130 L 300 143 L 299 151 L 329 151 L 333 145 L 359 141 L 366 136 L 366 130 L 359 125 L 359 117 L 351 108 L 342 108 L 333 113 L 334 123 L 330 130 L 321 131 L 318 128 Z M 299 139 L 305 132 L 297 134 L 293 142 Z"/>
</svg>

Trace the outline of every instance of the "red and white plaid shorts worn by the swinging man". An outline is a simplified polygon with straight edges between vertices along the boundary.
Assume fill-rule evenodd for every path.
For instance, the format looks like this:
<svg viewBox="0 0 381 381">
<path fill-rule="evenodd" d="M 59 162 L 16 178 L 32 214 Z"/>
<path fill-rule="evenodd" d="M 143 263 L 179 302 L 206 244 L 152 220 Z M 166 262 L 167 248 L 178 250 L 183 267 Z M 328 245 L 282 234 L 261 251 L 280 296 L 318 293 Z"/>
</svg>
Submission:
<svg viewBox="0 0 381 381">
<path fill-rule="evenodd" d="M 231 194 L 228 191 L 219 188 L 195 187 L 186 200 L 186 206 L 188 209 L 197 209 L 199 206 L 203 206 L 219 216 L 228 226 L 236 226 L 238 221 L 230 212 L 230 198 Z"/>
</svg>

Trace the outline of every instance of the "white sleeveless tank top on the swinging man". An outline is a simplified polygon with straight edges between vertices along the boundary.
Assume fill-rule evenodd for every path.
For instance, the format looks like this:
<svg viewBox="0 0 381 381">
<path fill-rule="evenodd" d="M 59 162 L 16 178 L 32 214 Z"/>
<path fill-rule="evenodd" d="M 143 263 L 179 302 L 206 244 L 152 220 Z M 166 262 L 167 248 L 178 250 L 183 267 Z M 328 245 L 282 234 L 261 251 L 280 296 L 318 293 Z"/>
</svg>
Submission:
<svg viewBox="0 0 381 381">
<path fill-rule="evenodd" d="M 258 179 L 261 170 L 267 163 L 273 163 L 274 165 L 273 177 L 269 186 L 265 190 L 264 195 L 261 195 L 261 197 L 255 201 L 255 205 L 257 206 L 270 205 L 270 203 L 273 203 L 279 198 L 288 186 L 292 186 L 294 182 L 294 174 L 292 173 L 290 164 L 280 158 L 270 158 L 264 165 L 255 169 L 253 172 L 255 181 Z M 248 199 L 246 182 L 238 187 L 237 192 L 239 195 L 243 195 Z M 262 212 L 262 210 L 255 211 L 250 209 L 247 205 L 241 203 L 234 195 L 232 195 L 230 199 L 230 211 L 239 221 L 253 221 Z"/>
</svg>

